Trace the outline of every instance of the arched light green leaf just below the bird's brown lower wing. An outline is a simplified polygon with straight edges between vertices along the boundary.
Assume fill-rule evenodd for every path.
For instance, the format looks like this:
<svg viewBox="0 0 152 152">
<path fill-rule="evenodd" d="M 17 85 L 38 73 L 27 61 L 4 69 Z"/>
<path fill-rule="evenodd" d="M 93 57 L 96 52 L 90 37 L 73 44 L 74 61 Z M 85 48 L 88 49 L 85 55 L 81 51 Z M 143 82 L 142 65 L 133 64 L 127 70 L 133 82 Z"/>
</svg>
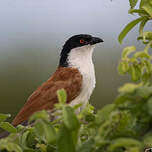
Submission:
<svg viewBox="0 0 152 152">
<path fill-rule="evenodd" d="M 48 121 L 48 122 L 50 121 L 49 114 L 45 110 L 35 112 L 30 117 L 29 121 L 32 122 L 32 121 L 37 120 L 37 119 L 42 119 L 42 120 L 45 120 L 45 121 Z"/>
</svg>

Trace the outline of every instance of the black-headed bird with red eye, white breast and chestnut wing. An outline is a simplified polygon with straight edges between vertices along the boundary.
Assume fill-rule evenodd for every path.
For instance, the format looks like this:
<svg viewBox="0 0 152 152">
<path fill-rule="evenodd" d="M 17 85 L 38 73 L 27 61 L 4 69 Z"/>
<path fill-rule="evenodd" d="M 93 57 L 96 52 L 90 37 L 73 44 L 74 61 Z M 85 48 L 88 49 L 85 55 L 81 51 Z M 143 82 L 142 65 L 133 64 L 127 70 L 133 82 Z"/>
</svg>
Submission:
<svg viewBox="0 0 152 152">
<path fill-rule="evenodd" d="M 92 54 L 95 45 L 101 42 L 101 38 L 89 34 L 70 37 L 62 47 L 56 71 L 27 99 L 12 125 L 25 124 L 37 111 L 52 110 L 58 103 L 59 89 L 66 91 L 68 104 L 82 103 L 85 107 L 96 84 Z"/>
</svg>

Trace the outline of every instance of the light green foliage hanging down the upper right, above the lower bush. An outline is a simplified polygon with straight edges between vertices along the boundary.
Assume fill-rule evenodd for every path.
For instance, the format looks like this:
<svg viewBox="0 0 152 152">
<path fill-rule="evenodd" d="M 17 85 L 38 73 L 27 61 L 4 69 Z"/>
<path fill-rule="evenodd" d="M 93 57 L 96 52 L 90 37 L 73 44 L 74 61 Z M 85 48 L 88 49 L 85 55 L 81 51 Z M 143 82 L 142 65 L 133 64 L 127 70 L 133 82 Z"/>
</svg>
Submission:
<svg viewBox="0 0 152 152">
<path fill-rule="evenodd" d="M 152 31 L 144 31 L 145 25 L 152 20 L 152 0 L 141 0 L 138 9 L 135 9 L 139 0 L 129 0 L 130 14 L 138 14 L 138 19 L 130 22 L 120 33 L 118 40 L 122 43 L 124 37 L 137 24 L 139 25 L 138 40 L 145 45 L 143 51 L 136 51 L 135 46 L 126 47 L 118 66 L 120 74 L 130 74 L 135 82 L 151 84 L 152 79 L 152 56 L 149 49 L 152 47 Z"/>
</svg>

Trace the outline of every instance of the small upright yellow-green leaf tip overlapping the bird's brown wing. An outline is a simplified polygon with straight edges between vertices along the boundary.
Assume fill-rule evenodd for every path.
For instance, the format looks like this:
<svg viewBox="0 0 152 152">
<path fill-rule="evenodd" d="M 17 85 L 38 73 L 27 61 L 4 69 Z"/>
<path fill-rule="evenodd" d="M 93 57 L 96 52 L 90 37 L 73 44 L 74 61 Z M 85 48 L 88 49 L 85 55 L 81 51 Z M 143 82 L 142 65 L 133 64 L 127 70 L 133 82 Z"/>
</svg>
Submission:
<svg viewBox="0 0 152 152">
<path fill-rule="evenodd" d="M 58 90 L 57 91 L 57 96 L 58 96 L 59 103 L 61 103 L 61 104 L 66 103 L 67 95 L 66 95 L 66 91 L 64 89 Z"/>
</svg>

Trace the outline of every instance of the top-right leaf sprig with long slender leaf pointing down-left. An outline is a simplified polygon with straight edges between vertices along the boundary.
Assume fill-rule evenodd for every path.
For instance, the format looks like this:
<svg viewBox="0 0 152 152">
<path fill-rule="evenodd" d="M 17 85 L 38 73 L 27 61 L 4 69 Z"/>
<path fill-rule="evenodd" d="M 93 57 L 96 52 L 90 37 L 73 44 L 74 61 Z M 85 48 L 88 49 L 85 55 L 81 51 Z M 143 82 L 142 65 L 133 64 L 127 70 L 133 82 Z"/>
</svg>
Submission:
<svg viewBox="0 0 152 152">
<path fill-rule="evenodd" d="M 125 26 L 125 28 L 120 33 L 118 40 L 122 43 L 125 36 L 137 25 L 139 26 L 139 36 L 138 40 L 142 40 L 144 44 L 152 44 L 152 32 L 151 31 L 144 31 L 144 27 L 147 22 L 152 20 L 152 1 L 151 0 L 141 0 L 139 8 L 135 8 L 137 2 L 139 0 L 129 0 L 130 2 L 130 10 L 128 13 L 130 14 L 137 14 L 139 18 L 131 21 L 129 24 Z"/>
</svg>

